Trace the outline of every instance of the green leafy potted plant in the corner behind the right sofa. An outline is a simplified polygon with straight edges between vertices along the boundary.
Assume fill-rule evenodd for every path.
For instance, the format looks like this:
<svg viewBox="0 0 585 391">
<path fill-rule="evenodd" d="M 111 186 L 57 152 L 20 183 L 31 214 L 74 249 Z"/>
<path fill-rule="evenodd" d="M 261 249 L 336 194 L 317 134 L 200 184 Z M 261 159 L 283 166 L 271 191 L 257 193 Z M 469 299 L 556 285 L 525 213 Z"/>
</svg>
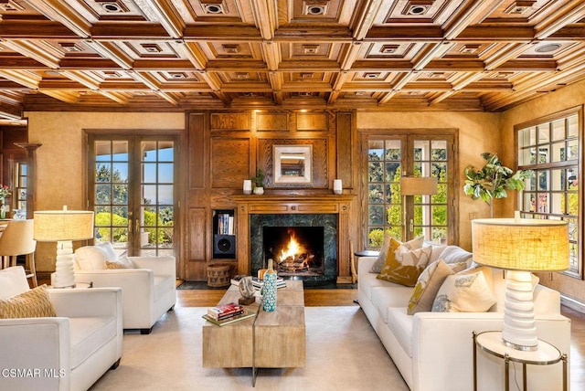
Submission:
<svg viewBox="0 0 585 391">
<path fill-rule="evenodd" d="M 498 159 L 495 153 L 485 152 L 482 157 L 486 163 L 484 167 L 475 170 L 473 165 L 463 169 L 465 185 L 463 192 L 473 199 L 482 199 L 490 206 L 490 217 L 494 218 L 494 198 L 505 198 L 506 190 L 524 190 L 525 179 L 530 171 L 512 171 Z"/>
</svg>

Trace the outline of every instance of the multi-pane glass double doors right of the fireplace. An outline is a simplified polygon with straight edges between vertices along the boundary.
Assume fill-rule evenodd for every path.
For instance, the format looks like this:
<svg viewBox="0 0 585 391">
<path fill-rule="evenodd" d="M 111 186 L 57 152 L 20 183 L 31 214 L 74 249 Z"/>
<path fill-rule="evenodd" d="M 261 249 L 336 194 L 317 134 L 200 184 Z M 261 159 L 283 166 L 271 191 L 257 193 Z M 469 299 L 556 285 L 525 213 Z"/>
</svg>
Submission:
<svg viewBox="0 0 585 391">
<path fill-rule="evenodd" d="M 448 145 L 452 143 L 452 136 L 397 134 L 367 138 L 368 248 L 379 248 L 385 233 L 402 240 L 422 235 L 435 242 L 453 242 L 452 202 L 448 201 L 452 180 L 448 174 L 452 158 Z M 405 175 L 437 178 L 437 193 L 401 195 L 400 177 Z"/>
</svg>

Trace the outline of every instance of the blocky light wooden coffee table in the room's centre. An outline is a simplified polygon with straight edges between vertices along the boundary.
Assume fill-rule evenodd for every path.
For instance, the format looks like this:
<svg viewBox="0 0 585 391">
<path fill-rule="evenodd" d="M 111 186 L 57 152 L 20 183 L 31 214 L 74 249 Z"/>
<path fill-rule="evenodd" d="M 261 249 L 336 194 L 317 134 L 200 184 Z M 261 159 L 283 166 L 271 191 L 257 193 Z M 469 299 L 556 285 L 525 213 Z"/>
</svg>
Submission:
<svg viewBox="0 0 585 391">
<path fill-rule="evenodd" d="M 238 287 L 230 286 L 218 304 L 238 302 Z M 256 317 L 217 326 L 203 325 L 204 368 L 301 367 L 305 363 L 303 281 L 287 280 L 277 292 L 274 312 L 264 312 L 259 302 L 246 306 Z"/>
</svg>

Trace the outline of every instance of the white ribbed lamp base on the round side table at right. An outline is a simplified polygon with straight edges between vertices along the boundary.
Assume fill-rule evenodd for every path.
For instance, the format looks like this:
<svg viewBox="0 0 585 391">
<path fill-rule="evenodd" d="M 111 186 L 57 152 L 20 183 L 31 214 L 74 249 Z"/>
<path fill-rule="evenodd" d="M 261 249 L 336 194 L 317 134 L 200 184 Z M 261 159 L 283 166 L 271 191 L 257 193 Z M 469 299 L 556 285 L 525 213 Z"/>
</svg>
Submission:
<svg viewBox="0 0 585 391">
<path fill-rule="evenodd" d="M 535 351 L 538 348 L 532 274 L 529 271 L 506 270 L 502 340 L 517 350 Z"/>
</svg>

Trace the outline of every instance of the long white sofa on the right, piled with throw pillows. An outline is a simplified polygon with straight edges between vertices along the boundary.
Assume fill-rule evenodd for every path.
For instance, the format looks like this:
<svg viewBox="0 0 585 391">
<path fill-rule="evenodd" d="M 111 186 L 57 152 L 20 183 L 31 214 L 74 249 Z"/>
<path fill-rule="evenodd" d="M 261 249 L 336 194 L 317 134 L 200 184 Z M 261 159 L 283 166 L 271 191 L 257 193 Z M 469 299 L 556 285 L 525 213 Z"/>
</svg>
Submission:
<svg viewBox="0 0 585 391">
<path fill-rule="evenodd" d="M 444 248 L 444 247 L 443 247 Z M 431 261 L 443 248 L 433 248 Z M 471 254 L 470 254 L 471 255 Z M 503 271 L 492 269 L 497 303 L 489 312 L 418 312 L 408 315 L 413 288 L 378 280 L 370 272 L 375 257 L 358 259 L 358 301 L 411 391 L 473 390 L 473 332 L 501 331 L 504 319 Z M 430 261 L 430 262 L 431 262 Z M 534 291 L 538 337 L 569 355 L 570 320 L 560 314 L 557 291 Z M 561 363 L 527 365 L 528 389 L 561 389 Z M 478 350 L 478 389 L 504 389 L 504 362 Z M 515 376 L 511 375 L 512 382 Z M 516 380 L 522 385 L 521 365 Z M 516 388 L 515 388 L 516 389 Z"/>
</svg>

